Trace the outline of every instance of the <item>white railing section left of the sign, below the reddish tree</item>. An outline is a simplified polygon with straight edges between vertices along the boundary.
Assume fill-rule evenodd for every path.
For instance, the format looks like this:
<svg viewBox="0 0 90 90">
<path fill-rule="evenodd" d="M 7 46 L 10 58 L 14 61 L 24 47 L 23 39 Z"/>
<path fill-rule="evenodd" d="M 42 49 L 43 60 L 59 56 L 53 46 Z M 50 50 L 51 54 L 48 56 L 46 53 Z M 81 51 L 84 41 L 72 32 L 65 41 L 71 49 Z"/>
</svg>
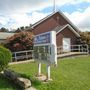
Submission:
<svg viewBox="0 0 90 90">
<path fill-rule="evenodd" d="M 32 58 L 33 58 L 33 50 L 12 52 L 13 61 L 23 60 L 23 59 L 28 60 Z"/>
</svg>

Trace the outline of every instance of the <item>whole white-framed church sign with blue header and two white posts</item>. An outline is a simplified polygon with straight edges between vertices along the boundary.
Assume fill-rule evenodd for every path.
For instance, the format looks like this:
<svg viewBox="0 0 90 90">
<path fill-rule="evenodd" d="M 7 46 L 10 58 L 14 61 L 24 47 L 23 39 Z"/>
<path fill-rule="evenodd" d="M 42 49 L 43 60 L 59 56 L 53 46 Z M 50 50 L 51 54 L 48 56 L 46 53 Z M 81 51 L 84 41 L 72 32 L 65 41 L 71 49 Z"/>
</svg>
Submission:
<svg viewBox="0 0 90 90">
<path fill-rule="evenodd" d="M 50 78 L 50 65 L 57 65 L 56 32 L 50 31 L 34 38 L 34 59 L 38 61 L 38 76 L 41 76 L 41 63 L 47 64 L 46 80 Z"/>
</svg>

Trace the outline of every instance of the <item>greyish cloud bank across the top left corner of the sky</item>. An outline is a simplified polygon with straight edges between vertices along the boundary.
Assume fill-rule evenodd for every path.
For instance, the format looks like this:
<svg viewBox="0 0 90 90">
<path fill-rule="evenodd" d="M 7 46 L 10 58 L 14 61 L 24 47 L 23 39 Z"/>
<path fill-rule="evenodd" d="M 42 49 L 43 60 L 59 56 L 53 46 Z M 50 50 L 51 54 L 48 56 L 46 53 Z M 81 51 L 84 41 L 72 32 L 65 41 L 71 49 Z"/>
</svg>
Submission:
<svg viewBox="0 0 90 90">
<path fill-rule="evenodd" d="M 50 1 L 50 0 L 49 0 Z M 48 0 L 0 0 L 0 13 L 26 13 L 49 6 Z"/>
</svg>

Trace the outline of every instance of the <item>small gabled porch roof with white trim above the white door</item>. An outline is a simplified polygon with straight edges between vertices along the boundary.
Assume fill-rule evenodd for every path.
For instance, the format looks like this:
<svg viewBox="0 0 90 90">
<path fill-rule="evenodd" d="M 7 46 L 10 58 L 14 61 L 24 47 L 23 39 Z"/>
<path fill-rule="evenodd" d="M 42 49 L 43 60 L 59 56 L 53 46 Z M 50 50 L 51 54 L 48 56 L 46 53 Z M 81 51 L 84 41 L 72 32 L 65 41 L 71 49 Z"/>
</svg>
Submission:
<svg viewBox="0 0 90 90">
<path fill-rule="evenodd" d="M 56 31 L 56 34 L 60 33 L 62 30 L 64 30 L 65 28 L 69 28 L 77 37 L 80 37 L 80 35 L 69 25 L 63 25 L 63 26 L 57 26 L 56 28 L 54 28 L 52 31 Z"/>
</svg>

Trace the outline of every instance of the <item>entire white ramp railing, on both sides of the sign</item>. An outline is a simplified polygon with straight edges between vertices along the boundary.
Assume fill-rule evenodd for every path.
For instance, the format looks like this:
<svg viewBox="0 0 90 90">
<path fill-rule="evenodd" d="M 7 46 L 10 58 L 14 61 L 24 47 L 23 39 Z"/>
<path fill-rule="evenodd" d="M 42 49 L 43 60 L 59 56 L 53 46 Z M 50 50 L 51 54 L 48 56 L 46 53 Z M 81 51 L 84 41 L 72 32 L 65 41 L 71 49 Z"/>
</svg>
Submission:
<svg viewBox="0 0 90 90">
<path fill-rule="evenodd" d="M 69 52 L 85 52 L 89 53 L 88 45 L 71 45 Z M 57 47 L 57 55 L 66 53 L 63 50 L 63 46 Z M 33 50 L 12 52 L 13 61 L 28 60 L 33 58 Z"/>
</svg>

